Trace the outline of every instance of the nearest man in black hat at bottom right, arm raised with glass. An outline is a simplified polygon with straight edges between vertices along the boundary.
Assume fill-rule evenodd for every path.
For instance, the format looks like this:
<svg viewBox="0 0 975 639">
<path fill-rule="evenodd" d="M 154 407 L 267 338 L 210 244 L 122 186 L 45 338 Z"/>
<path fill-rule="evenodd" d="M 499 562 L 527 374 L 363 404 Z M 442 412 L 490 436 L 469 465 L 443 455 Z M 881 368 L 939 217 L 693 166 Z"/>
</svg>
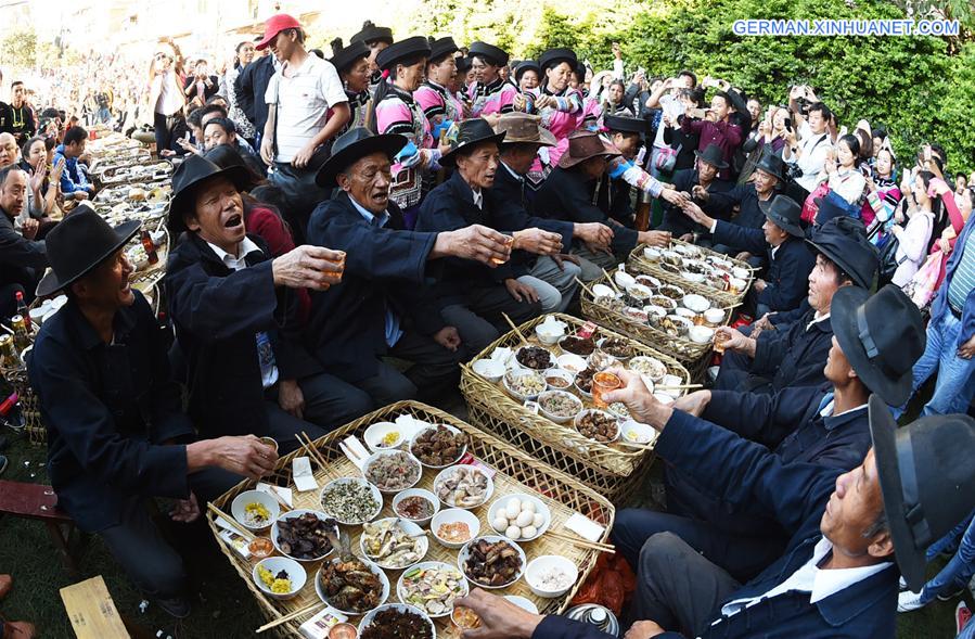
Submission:
<svg viewBox="0 0 975 639">
<path fill-rule="evenodd" d="M 606 395 L 660 433 L 655 450 L 709 493 L 752 504 L 791 536 L 744 584 L 671 534 L 640 552 L 627 637 L 894 637 L 897 576 L 924 582 L 924 549 L 975 506 L 975 421 L 928 417 L 897 427 L 870 399 L 872 448 L 849 472 L 784 464 L 764 447 L 657 402 L 640 378 Z M 596 626 L 541 616 L 475 589 L 459 599 L 485 639 L 612 639 Z"/>
</svg>

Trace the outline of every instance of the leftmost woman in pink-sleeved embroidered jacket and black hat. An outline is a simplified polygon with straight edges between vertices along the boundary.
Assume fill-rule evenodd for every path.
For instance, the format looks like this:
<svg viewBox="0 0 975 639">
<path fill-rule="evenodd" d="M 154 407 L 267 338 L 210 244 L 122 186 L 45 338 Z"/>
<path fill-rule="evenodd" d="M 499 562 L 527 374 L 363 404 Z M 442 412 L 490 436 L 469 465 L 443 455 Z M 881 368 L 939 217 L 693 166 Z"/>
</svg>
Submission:
<svg viewBox="0 0 975 639">
<path fill-rule="evenodd" d="M 376 55 L 376 64 L 386 79 L 376 87 L 370 123 L 377 133 L 399 133 L 409 140 L 393 164 L 389 197 L 402 209 L 410 229 L 423 197 L 423 174 L 440 168 L 437 164 L 440 151 L 429 123 L 413 100 L 428 57 L 429 43 L 422 36 L 394 42 Z"/>
</svg>

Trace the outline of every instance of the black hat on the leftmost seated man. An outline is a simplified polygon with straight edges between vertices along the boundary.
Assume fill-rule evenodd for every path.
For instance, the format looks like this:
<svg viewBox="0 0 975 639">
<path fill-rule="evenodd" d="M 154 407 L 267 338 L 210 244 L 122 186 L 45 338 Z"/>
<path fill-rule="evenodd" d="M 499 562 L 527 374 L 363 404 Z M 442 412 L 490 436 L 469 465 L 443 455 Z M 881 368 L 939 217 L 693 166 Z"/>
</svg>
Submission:
<svg viewBox="0 0 975 639">
<path fill-rule="evenodd" d="M 139 220 L 114 229 L 88 204 L 80 204 L 46 238 L 51 270 L 37 284 L 37 296 L 66 289 L 126 245 L 142 228 Z"/>
</svg>

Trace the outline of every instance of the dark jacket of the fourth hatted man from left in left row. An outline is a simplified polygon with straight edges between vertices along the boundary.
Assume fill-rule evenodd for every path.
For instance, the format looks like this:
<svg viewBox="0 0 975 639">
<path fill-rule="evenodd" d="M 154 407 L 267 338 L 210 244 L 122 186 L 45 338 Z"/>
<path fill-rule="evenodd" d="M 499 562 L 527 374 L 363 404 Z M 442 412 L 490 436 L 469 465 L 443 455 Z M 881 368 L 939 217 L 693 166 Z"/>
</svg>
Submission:
<svg viewBox="0 0 975 639">
<path fill-rule="evenodd" d="M 499 167 L 499 170 L 504 170 Z M 471 225 L 484 225 L 498 231 L 518 230 L 509 205 L 493 189 L 484 189 L 483 208 L 474 204 L 474 193 L 461 177 L 453 171 L 450 178 L 429 192 L 420 207 L 416 218 L 416 231 L 438 233 L 453 231 Z M 436 292 L 444 306 L 457 304 L 471 287 L 491 287 L 502 284 L 504 280 L 525 274 L 523 265 L 509 261 L 498 268 L 487 266 L 473 259 L 448 257 L 444 259 L 442 274 L 437 280 Z"/>
</svg>

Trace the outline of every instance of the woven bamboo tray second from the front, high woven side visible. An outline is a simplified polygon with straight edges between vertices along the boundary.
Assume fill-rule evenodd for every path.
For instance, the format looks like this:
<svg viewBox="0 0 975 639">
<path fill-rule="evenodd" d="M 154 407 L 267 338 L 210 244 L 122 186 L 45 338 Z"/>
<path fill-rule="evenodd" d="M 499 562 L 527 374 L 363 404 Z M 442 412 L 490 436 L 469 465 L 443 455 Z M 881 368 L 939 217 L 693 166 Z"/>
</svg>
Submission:
<svg viewBox="0 0 975 639">
<path fill-rule="evenodd" d="M 535 327 L 546 317 L 542 316 L 518 327 L 518 330 L 535 345 L 540 345 L 535 337 Z M 575 332 L 583 325 L 583 321 L 567 315 L 553 315 L 568 324 L 568 332 Z M 599 327 L 605 337 L 621 337 L 630 342 L 637 355 L 655 357 L 664 362 L 667 372 L 677 375 L 682 383 L 690 380 L 688 370 L 676 359 L 664 355 L 643 344 L 639 344 L 626 335 Z M 529 337 L 530 336 L 530 337 Z M 475 359 L 488 358 L 491 352 L 505 346 L 512 349 L 521 345 L 521 340 L 511 331 L 495 341 Z M 555 356 L 562 355 L 557 345 L 544 346 Z M 574 389 L 567 388 L 567 391 Z M 512 398 L 504 386 L 491 383 L 474 372 L 470 365 L 461 366 L 461 392 L 467 400 L 470 419 L 482 429 L 498 435 L 502 439 L 525 450 L 533 457 L 579 478 L 583 484 L 601 495 L 616 501 L 626 490 L 632 490 L 638 480 L 630 483 L 638 471 L 646 471 L 653 461 L 653 452 L 627 447 L 621 444 L 599 444 L 579 434 L 573 424 L 556 424 L 542 414 L 525 408 L 521 401 Z M 592 402 L 583 397 L 586 408 Z"/>
</svg>

